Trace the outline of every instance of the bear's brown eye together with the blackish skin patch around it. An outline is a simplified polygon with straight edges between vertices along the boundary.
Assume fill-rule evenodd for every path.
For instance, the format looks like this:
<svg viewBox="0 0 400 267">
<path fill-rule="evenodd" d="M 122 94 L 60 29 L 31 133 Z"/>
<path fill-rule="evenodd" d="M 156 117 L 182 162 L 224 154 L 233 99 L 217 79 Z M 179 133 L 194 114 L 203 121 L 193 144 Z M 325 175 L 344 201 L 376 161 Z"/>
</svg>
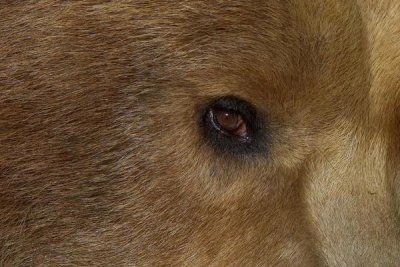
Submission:
<svg viewBox="0 0 400 267">
<path fill-rule="evenodd" d="M 231 154 L 259 153 L 265 149 L 263 121 L 249 102 L 224 96 L 205 105 L 200 126 L 206 141 Z"/>
</svg>

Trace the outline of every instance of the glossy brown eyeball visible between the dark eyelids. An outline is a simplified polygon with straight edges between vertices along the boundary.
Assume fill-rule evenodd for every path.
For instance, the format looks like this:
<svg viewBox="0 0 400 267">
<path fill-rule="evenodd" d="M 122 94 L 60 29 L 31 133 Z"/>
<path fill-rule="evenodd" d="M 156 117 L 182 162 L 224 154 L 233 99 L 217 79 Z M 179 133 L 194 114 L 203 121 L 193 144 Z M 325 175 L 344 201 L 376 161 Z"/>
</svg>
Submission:
<svg viewBox="0 0 400 267">
<path fill-rule="evenodd" d="M 225 109 L 211 110 L 214 126 L 224 134 L 247 137 L 247 126 L 239 112 Z"/>
</svg>

